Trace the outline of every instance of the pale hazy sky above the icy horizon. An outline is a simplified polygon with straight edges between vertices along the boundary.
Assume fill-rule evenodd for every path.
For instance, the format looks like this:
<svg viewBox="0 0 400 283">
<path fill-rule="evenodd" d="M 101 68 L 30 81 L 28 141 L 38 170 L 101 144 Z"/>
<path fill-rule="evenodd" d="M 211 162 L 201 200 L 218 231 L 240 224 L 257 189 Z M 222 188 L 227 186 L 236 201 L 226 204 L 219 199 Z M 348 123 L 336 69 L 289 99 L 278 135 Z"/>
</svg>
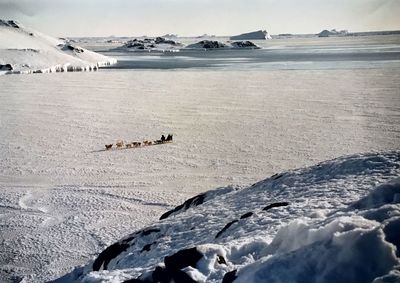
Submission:
<svg viewBox="0 0 400 283">
<path fill-rule="evenodd" d="M 0 0 L 0 18 L 53 36 L 400 29 L 400 0 Z"/>
</svg>

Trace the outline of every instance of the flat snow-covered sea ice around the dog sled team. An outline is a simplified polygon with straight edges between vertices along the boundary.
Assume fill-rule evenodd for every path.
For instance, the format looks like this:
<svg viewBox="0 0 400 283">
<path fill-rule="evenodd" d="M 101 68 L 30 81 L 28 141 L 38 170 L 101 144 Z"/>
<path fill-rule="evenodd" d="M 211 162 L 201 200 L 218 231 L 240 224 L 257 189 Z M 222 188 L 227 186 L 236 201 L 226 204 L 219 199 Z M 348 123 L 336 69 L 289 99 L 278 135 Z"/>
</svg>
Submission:
<svg viewBox="0 0 400 283">
<path fill-rule="evenodd" d="M 210 189 L 247 187 L 345 154 L 398 150 L 399 74 L 193 69 L 0 77 L 0 281 L 57 278 Z M 162 133 L 173 133 L 174 143 L 99 151 L 117 139 Z M 339 198 L 338 208 L 388 179 L 381 175 L 366 176 L 376 182 Z M 235 217 L 259 212 L 250 206 Z"/>
</svg>

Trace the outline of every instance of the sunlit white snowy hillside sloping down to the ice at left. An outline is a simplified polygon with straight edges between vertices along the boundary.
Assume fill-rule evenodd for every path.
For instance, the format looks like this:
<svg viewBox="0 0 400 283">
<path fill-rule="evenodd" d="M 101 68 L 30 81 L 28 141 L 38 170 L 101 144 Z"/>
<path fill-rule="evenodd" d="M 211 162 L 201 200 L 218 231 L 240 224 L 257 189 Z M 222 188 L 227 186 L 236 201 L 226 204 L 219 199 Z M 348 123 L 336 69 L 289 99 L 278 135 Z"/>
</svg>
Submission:
<svg viewBox="0 0 400 283">
<path fill-rule="evenodd" d="M 0 73 L 89 71 L 115 62 L 15 21 L 0 20 Z"/>
</svg>

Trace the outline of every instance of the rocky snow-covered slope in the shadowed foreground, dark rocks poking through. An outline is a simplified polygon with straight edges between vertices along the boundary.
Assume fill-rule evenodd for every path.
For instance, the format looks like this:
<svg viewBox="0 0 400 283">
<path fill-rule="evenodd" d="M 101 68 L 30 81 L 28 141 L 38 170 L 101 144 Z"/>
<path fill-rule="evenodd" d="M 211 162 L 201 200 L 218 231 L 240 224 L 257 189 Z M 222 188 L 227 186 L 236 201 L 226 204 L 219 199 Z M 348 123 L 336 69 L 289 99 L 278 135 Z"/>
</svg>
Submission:
<svg viewBox="0 0 400 283">
<path fill-rule="evenodd" d="M 55 282 L 399 282 L 400 151 L 186 201 Z"/>
</svg>

